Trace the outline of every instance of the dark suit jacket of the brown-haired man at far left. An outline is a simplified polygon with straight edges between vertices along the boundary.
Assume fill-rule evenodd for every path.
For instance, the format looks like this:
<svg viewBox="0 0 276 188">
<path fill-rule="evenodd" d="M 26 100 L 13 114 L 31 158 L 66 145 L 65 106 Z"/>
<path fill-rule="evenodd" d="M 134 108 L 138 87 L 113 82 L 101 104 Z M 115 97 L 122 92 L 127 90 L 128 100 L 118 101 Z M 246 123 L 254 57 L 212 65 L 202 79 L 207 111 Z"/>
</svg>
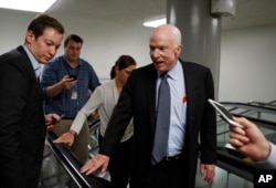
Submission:
<svg viewBox="0 0 276 188">
<path fill-rule="evenodd" d="M 36 188 L 45 142 L 42 97 L 22 46 L 0 56 L 0 187 Z"/>
</svg>

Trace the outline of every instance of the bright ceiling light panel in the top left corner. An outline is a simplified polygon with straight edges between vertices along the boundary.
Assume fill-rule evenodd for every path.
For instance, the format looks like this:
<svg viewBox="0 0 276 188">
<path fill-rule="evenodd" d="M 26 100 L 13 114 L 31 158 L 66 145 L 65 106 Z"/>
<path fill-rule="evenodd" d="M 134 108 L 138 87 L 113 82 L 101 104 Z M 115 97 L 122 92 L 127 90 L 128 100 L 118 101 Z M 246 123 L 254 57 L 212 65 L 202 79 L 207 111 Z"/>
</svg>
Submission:
<svg viewBox="0 0 276 188">
<path fill-rule="evenodd" d="M 45 12 L 56 0 L 0 0 L 0 8 Z"/>
</svg>

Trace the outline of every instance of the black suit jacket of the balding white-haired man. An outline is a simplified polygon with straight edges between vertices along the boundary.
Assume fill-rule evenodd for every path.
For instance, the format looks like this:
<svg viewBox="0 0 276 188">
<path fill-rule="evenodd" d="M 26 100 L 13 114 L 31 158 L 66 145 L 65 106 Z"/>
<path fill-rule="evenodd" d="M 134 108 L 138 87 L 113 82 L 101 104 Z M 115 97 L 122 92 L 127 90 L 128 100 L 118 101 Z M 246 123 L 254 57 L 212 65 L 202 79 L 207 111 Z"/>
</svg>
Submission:
<svg viewBox="0 0 276 188">
<path fill-rule="evenodd" d="M 214 164 L 216 160 L 216 122 L 215 112 L 208 103 L 214 97 L 211 71 L 202 65 L 182 62 L 188 97 L 187 132 L 184 140 L 183 168 L 188 176 L 185 187 L 193 188 L 197 160 L 201 152 L 201 163 Z M 100 154 L 110 156 L 119 143 L 124 129 L 134 116 L 134 163 L 131 180 L 142 181 L 150 165 L 153 134 L 156 126 L 156 82 L 157 71 L 153 65 L 135 70 L 124 86 L 123 93 L 114 109 Z M 184 114 L 183 114 L 184 115 Z M 199 145 L 199 133 L 201 145 Z"/>
</svg>

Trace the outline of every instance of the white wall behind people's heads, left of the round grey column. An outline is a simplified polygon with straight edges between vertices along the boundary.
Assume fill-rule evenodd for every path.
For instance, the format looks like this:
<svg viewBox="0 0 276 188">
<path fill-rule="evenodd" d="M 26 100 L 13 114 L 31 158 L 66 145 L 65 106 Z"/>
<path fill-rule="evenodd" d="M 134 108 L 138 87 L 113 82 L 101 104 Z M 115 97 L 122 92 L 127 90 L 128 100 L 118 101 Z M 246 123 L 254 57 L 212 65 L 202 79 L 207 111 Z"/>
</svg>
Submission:
<svg viewBox="0 0 276 188">
<path fill-rule="evenodd" d="M 0 54 L 24 42 L 28 24 L 35 15 L 36 13 L 0 9 Z M 100 79 L 109 79 L 109 70 L 121 54 L 131 55 L 138 66 L 151 62 L 148 48 L 148 39 L 152 31 L 150 28 L 145 28 L 140 23 L 127 25 L 100 19 L 50 15 L 63 23 L 66 34 L 75 33 L 84 39 L 81 56 L 92 63 Z M 57 55 L 61 54 L 63 45 L 57 52 Z"/>
</svg>

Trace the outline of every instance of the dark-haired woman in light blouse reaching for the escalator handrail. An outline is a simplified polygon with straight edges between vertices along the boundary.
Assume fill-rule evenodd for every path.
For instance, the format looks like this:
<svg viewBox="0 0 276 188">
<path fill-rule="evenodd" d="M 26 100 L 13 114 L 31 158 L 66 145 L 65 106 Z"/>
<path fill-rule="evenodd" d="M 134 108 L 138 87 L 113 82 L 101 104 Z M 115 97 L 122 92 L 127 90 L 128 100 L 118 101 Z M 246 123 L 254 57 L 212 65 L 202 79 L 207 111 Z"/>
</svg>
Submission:
<svg viewBox="0 0 276 188">
<path fill-rule="evenodd" d="M 104 138 L 113 108 L 118 101 L 123 86 L 125 85 L 129 74 L 135 69 L 136 61 L 131 56 L 120 55 L 115 65 L 112 67 L 112 80 L 96 87 L 88 102 L 78 112 L 71 126 L 71 130 L 78 132 L 82 128 L 84 121 L 86 121 L 87 117 L 97 109 L 100 118 L 100 143 Z M 116 148 L 114 155 L 110 158 L 108 170 L 112 177 L 112 187 L 114 188 L 126 188 L 128 184 L 132 129 L 132 122 L 130 122 L 125 130 L 119 146 Z M 70 132 L 63 134 L 56 140 L 54 140 L 54 143 L 65 144 L 68 146 L 71 146 L 73 142 L 74 136 Z"/>
</svg>

